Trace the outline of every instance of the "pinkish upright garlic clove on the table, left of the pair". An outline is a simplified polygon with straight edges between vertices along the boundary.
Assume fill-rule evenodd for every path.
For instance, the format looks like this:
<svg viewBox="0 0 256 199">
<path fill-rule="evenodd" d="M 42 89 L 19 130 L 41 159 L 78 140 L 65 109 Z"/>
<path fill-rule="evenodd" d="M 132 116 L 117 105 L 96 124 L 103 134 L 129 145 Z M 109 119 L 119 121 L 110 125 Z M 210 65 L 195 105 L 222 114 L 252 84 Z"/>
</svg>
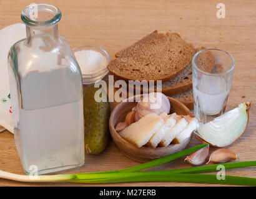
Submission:
<svg viewBox="0 0 256 199">
<path fill-rule="evenodd" d="M 204 164 L 209 154 L 209 145 L 206 147 L 195 151 L 185 158 L 185 162 L 192 165 L 201 165 Z"/>
</svg>

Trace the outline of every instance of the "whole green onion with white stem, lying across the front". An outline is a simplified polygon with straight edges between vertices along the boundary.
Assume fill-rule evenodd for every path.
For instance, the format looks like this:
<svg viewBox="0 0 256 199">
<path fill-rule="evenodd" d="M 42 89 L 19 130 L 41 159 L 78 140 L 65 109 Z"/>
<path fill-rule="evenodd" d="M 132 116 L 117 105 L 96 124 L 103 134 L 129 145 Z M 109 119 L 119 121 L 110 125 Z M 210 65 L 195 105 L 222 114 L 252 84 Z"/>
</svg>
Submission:
<svg viewBox="0 0 256 199">
<path fill-rule="evenodd" d="M 167 155 L 157 160 L 129 167 L 121 170 L 111 170 L 107 172 L 90 172 L 81 174 L 61 174 L 61 175 L 18 175 L 0 170 L 0 178 L 15 180 L 19 182 L 74 182 L 74 183 L 121 183 L 121 182 L 190 182 L 190 183 L 214 183 L 224 185 L 247 185 L 256 186 L 256 178 L 237 177 L 225 175 L 225 180 L 218 180 L 215 174 L 200 174 L 204 172 L 215 172 L 218 165 L 223 165 L 226 170 L 244 167 L 255 167 L 256 161 L 231 162 L 225 164 L 204 165 L 185 169 L 144 171 L 166 162 L 178 159 L 184 155 L 191 154 L 202 149 L 208 144 L 185 149 L 175 154 Z"/>
</svg>

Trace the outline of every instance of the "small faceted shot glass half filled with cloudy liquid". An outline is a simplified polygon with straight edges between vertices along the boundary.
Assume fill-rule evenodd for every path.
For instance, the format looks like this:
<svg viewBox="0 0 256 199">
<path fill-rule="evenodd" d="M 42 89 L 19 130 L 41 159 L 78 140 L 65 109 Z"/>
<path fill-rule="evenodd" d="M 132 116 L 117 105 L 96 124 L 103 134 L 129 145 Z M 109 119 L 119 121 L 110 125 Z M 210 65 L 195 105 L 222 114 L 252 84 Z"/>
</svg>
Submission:
<svg viewBox="0 0 256 199">
<path fill-rule="evenodd" d="M 192 57 L 194 115 L 205 124 L 225 112 L 235 59 L 220 49 L 204 49 Z"/>
</svg>

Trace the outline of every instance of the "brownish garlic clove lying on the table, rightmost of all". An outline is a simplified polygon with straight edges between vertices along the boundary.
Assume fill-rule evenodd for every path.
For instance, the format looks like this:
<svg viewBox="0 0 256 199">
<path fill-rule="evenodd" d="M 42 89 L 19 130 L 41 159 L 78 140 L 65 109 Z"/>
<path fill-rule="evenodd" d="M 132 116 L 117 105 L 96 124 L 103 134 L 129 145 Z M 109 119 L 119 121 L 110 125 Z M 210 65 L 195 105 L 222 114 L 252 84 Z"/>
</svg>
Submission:
<svg viewBox="0 0 256 199">
<path fill-rule="evenodd" d="M 224 163 L 230 160 L 236 160 L 237 155 L 232 150 L 229 149 L 218 149 L 210 154 L 209 162 Z"/>
</svg>

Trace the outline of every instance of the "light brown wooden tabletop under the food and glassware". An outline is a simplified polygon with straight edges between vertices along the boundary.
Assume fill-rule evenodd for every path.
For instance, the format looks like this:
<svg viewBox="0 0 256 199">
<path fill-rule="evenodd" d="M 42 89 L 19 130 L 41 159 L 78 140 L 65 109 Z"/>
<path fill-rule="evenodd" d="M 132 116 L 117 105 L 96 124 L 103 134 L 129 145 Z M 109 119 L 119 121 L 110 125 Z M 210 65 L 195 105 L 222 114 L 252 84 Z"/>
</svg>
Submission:
<svg viewBox="0 0 256 199">
<path fill-rule="evenodd" d="M 38 2 L 38 1 L 34 1 Z M 41 2 L 41 0 L 39 1 Z M 62 11 L 59 34 L 66 37 L 71 47 L 96 45 L 114 53 L 133 44 L 153 30 L 172 30 L 196 47 L 217 47 L 234 55 L 237 65 L 230 91 L 227 109 L 239 103 L 251 101 L 250 122 L 239 141 L 229 148 L 239 155 L 239 160 L 256 160 L 256 1 L 47 1 Z M 226 18 L 217 19 L 216 5 L 223 2 Z M 22 8 L 31 1 L 0 0 L 0 28 L 21 22 Z M 1 47 L 1 45 L 0 45 Z M 242 98 L 245 96 L 245 98 Z M 189 146 L 199 144 L 192 139 Z M 113 142 L 101 155 L 86 155 L 86 164 L 64 173 L 92 172 L 124 169 L 137 165 L 124 157 Z M 183 159 L 154 168 L 174 169 L 190 167 Z M 0 134 L 0 169 L 24 174 L 10 132 Z M 154 170 L 153 169 L 153 170 Z M 226 171 L 229 175 L 256 177 L 256 169 Z M 2 186 L 27 185 L 77 185 L 73 183 L 18 183 L 1 180 Z M 79 184 L 80 185 L 80 184 Z M 119 183 L 117 186 L 209 186 L 194 183 Z M 83 186 L 83 185 L 81 185 Z M 88 186 L 88 185 L 86 185 Z M 95 185 L 92 185 L 95 186 Z"/>
</svg>

